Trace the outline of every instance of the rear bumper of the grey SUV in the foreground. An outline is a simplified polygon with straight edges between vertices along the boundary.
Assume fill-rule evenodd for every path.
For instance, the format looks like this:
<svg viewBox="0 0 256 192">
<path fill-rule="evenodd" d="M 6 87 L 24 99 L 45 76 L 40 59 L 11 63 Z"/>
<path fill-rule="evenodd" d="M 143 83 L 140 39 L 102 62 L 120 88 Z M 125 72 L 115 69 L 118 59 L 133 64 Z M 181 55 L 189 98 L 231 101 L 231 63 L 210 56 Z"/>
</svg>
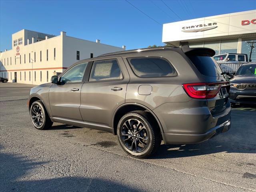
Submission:
<svg viewBox="0 0 256 192">
<path fill-rule="evenodd" d="M 231 127 L 231 107 L 228 100 L 226 109 L 214 115 L 208 108 L 207 101 L 203 100 L 165 103 L 153 112 L 162 125 L 165 144 L 200 143 Z"/>
</svg>

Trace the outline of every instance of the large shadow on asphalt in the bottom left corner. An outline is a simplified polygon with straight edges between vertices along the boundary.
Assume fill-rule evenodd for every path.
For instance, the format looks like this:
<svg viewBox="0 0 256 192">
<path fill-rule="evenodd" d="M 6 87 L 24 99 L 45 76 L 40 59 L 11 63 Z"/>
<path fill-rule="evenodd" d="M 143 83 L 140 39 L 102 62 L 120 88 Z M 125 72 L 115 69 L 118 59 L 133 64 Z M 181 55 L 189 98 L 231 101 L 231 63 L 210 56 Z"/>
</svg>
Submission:
<svg viewBox="0 0 256 192">
<path fill-rule="evenodd" d="M 140 191 L 125 184 L 105 180 L 101 178 L 89 177 L 60 177 L 50 178 L 51 174 L 43 175 L 47 172 L 47 163 L 43 161 L 28 160 L 28 157 L 22 154 L 10 154 L 0 152 L 0 191 L 5 192 L 59 192 L 59 191 Z M 43 166 L 44 165 L 44 166 Z M 45 169 L 45 170 L 42 170 Z M 40 178 L 43 177 L 43 178 Z M 49 177 L 49 178 L 47 178 Z M 59 178 L 56 178 L 59 177 Z M 26 178 L 26 180 L 24 180 Z"/>
</svg>

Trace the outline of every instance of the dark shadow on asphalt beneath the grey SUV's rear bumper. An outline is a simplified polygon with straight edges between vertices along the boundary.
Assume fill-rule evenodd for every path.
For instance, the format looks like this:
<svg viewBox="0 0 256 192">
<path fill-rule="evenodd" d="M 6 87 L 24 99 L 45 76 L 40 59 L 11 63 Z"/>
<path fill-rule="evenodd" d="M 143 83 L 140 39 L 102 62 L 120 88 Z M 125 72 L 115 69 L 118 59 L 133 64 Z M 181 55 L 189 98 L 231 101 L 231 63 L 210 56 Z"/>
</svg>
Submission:
<svg viewBox="0 0 256 192">
<path fill-rule="evenodd" d="M 161 145 L 152 159 L 181 158 L 205 154 L 249 153 L 256 154 L 256 128 L 244 130 L 245 126 L 236 126 L 228 132 L 198 144 Z"/>
</svg>

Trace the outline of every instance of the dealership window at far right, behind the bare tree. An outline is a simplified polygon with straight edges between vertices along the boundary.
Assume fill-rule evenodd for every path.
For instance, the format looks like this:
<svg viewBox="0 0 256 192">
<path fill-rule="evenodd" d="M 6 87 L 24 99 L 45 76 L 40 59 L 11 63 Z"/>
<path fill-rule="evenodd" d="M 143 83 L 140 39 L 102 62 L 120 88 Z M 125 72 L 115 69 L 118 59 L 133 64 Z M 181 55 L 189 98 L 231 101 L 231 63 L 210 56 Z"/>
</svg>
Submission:
<svg viewBox="0 0 256 192">
<path fill-rule="evenodd" d="M 242 54 L 248 55 L 248 61 L 256 62 L 256 38 L 243 38 L 242 39 Z"/>
</svg>

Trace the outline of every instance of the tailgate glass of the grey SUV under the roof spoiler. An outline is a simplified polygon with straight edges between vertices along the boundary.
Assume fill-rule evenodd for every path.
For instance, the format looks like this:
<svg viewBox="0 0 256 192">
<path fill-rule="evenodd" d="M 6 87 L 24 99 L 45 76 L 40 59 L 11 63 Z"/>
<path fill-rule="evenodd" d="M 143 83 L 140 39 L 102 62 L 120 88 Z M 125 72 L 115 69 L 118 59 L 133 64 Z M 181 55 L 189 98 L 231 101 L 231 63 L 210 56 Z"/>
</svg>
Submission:
<svg viewBox="0 0 256 192">
<path fill-rule="evenodd" d="M 218 63 L 209 56 L 188 55 L 198 71 L 205 76 L 222 76 L 222 70 Z"/>
</svg>

